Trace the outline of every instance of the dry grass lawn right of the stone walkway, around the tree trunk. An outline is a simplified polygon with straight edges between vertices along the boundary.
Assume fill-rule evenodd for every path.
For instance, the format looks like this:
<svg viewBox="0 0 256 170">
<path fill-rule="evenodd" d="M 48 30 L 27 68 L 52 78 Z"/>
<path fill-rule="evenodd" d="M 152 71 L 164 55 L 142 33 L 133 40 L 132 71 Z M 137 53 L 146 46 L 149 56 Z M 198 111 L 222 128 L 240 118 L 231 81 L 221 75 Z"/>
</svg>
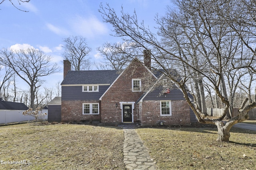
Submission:
<svg viewBox="0 0 256 170">
<path fill-rule="evenodd" d="M 232 128 L 230 143 L 216 141 L 217 129 L 136 129 L 161 170 L 255 169 L 256 131 Z"/>
</svg>

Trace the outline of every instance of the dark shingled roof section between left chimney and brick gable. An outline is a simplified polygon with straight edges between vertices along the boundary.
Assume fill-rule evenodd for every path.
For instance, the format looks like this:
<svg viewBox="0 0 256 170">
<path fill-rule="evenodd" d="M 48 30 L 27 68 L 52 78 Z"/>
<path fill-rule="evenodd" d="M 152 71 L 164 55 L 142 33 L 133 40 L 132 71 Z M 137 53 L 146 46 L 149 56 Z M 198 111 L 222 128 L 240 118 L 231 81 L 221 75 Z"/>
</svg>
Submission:
<svg viewBox="0 0 256 170">
<path fill-rule="evenodd" d="M 69 71 L 61 85 L 112 84 L 118 75 L 117 70 Z"/>
</svg>

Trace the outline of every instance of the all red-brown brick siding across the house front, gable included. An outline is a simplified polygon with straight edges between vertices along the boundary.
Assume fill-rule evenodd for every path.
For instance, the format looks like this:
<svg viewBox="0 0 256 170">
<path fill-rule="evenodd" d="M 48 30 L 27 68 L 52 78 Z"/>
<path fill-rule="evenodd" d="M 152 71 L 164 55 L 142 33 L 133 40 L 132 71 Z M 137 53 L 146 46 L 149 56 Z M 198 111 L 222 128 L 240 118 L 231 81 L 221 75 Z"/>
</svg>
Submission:
<svg viewBox="0 0 256 170">
<path fill-rule="evenodd" d="M 62 122 L 81 122 L 99 120 L 102 123 L 121 123 L 122 109 L 120 102 L 137 102 L 143 92 L 132 92 L 132 79 L 142 79 L 142 89 L 144 87 L 143 78 L 148 73 L 147 68 L 133 61 L 124 70 L 122 75 L 112 84 L 110 89 L 104 94 L 102 100 L 62 100 L 61 121 Z M 147 74 L 148 77 L 154 76 Z M 83 103 L 100 103 L 99 115 L 83 115 Z M 117 107 L 116 107 L 117 104 Z M 146 100 L 139 104 L 134 104 L 134 122 L 142 125 L 158 125 L 161 121 L 164 125 L 187 125 L 190 124 L 190 107 L 185 100 L 172 100 L 172 115 L 160 115 L 160 101 Z M 181 120 L 181 121 L 180 121 Z"/>
</svg>

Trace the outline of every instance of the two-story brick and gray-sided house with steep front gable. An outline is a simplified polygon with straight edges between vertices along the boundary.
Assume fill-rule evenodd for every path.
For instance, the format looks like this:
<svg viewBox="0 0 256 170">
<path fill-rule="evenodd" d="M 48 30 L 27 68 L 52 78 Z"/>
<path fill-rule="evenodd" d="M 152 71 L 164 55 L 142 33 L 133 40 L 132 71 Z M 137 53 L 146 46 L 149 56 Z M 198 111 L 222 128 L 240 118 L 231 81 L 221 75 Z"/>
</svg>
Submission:
<svg viewBox="0 0 256 170">
<path fill-rule="evenodd" d="M 151 71 L 150 56 L 144 63 L 135 59 L 122 72 L 116 70 L 70 70 L 64 60 L 61 83 L 61 121 L 103 124 L 188 125 L 195 116 L 178 88 L 160 95 L 161 88 L 145 89 L 145 76 L 157 81 Z M 49 107 L 50 109 L 50 107 Z M 50 111 L 48 113 L 50 116 Z"/>
</svg>

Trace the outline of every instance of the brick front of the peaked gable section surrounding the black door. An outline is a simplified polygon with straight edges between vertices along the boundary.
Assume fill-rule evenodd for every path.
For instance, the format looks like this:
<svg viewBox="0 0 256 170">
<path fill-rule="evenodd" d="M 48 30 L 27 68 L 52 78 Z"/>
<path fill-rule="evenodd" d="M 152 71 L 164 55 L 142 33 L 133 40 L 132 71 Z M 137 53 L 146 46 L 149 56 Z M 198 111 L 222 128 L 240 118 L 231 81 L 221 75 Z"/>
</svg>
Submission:
<svg viewBox="0 0 256 170">
<path fill-rule="evenodd" d="M 136 102 L 143 92 L 132 92 L 132 78 L 143 78 L 148 72 L 145 66 L 133 61 L 102 97 L 102 123 L 121 123 L 122 109 L 119 102 Z M 153 76 L 153 75 L 152 75 Z M 143 80 L 142 80 L 143 86 Z M 116 107 L 118 104 L 118 107 Z M 137 104 L 134 104 L 134 122 L 139 122 Z"/>
</svg>

